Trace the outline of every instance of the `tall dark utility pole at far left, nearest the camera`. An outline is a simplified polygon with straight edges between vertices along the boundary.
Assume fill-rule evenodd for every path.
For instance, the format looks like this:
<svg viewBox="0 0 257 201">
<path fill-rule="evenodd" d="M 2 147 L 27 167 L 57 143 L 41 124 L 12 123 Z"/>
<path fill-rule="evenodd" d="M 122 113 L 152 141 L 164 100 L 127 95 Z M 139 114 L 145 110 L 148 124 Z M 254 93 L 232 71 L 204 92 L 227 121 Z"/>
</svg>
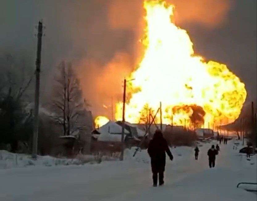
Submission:
<svg viewBox="0 0 257 201">
<path fill-rule="evenodd" d="M 40 87 L 40 63 L 41 63 L 41 45 L 43 35 L 43 24 L 38 22 L 37 33 L 37 53 L 36 53 L 36 86 L 35 86 L 35 103 L 34 103 L 34 125 L 33 125 L 33 147 L 32 158 L 37 157 L 37 143 L 38 143 L 38 110 L 39 110 L 39 87 Z"/>
</svg>

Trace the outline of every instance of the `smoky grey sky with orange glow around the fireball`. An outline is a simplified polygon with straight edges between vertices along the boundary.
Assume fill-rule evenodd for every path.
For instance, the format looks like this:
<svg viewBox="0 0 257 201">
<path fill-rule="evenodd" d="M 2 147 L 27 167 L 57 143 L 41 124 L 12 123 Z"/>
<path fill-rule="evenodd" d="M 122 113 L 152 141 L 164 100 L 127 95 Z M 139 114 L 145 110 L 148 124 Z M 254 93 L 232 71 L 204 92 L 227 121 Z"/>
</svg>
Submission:
<svg viewBox="0 0 257 201">
<path fill-rule="evenodd" d="M 168 2 L 175 4 L 176 22 L 188 30 L 196 53 L 228 64 L 256 96 L 256 0 Z M 110 96 L 120 97 L 124 75 L 142 55 L 142 5 L 141 0 L 0 0 L 0 53 L 26 52 L 34 66 L 35 25 L 43 19 L 42 95 L 48 96 L 49 80 L 65 59 L 77 66 L 86 99 L 100 114 Z"/>
</svg>

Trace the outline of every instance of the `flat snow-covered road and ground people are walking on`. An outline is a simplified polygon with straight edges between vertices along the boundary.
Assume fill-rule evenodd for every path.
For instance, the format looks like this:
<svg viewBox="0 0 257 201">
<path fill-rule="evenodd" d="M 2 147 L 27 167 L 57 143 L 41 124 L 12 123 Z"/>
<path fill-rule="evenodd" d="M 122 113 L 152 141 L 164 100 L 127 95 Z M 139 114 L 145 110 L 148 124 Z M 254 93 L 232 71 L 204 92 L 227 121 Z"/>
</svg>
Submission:
<svg viewBox="0 0 257 201">
<path fill-rule="evenodd" d="M 217 143 L 217 141 L 213 141 Z M 256 155 L 251 161 L 233 149 L 233 140 L 221 145 L 216 167 L 208 166 L 211 143 L 194 148 L 172 148 L 174 160 L 167 159 L 165 185 L 152 187 L 149 157 L 145 150 L 125 161 L 104 161 L 93 165 L 34 166 L 0 170 L 1 201 L 256 201 Z"/>
</svg>

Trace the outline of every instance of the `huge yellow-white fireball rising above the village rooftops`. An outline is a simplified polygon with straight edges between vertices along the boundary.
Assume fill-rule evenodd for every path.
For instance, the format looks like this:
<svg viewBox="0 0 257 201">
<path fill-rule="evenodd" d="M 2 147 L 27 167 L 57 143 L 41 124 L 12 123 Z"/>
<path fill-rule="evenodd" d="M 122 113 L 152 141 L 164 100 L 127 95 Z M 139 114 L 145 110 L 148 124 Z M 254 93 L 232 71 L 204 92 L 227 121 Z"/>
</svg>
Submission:
<svg viewBox="0 0 257 201">
<path fill-rule="evenodd" d="M 194 54 L 187 32 L 174 24 L 173 5 L 145 1 L 144 8 L 145 53 L 127 85 L 126 121 L 141 122 L 144 110 L 156 112 L 161 101 L 166 124 L 206 127 L 234 122 L 246 99 L 244 83 L 225 64 L 205 62 Z M 116 104 L 116 119 L 122 119 L 121 102 Z"/>
</svg>

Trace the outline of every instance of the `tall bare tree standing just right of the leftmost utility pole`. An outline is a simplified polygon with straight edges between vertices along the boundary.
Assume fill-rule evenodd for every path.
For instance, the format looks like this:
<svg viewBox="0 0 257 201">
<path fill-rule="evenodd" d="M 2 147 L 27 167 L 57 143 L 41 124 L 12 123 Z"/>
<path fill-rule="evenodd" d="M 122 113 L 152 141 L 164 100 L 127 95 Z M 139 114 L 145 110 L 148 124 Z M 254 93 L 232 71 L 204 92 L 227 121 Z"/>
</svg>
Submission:
<svg viewBox="0 0 257 201">
<path fill-rule="evenodd" d="M 88 105 L 82 97 L 79 80 L 71 63 L 61 62 L 54 81 L 54 119 L 62 125 L 63 135 L 84 130 L 85 125 L 79 118 L 84 115 Z"/>
</svg>

